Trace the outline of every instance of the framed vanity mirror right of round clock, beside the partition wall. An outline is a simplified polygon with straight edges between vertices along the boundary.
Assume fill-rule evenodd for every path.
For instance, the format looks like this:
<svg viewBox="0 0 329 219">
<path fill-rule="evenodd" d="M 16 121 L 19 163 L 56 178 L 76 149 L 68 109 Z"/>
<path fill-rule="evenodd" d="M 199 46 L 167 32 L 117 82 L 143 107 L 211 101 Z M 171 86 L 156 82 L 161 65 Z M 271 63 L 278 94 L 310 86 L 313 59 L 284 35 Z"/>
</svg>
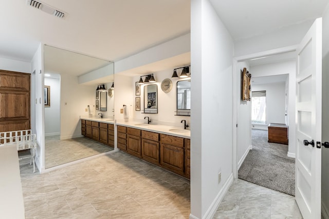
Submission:
<svg viewBox="0 0 329 219">
<path fill-rule="evenodd" d="M 177 115 L 191 115 L 191 80 L 177 82 Z"/>
</svg>

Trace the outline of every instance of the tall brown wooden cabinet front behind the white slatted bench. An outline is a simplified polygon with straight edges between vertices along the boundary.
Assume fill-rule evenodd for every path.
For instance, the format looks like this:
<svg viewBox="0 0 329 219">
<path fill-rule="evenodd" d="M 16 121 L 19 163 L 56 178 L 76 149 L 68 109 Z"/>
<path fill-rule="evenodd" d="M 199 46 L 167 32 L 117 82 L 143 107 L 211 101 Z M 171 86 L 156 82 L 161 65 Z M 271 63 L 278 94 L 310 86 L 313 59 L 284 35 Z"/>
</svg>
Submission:
<svg viewBox="0 0 329 219">
<path fill-rule="evenodd" d="M 31 129 L 30 76 L 0 70 L 0 132 Z"/>
</svg>

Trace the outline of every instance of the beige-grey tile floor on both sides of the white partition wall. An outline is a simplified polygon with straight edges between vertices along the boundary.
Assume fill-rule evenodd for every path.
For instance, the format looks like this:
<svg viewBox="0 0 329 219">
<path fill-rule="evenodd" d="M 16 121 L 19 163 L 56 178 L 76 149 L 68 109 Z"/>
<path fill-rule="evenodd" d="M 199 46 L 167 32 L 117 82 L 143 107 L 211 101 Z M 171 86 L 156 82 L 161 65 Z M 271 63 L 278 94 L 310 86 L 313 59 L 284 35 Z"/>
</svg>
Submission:
<svg viewBox="0 0 329 219">
<path fill-rule="evenodd" d="M 27 219 L 189 218 L 190 181 L 120 151 L 44 174 L 20 168 Z M 302 216 L 294 196 L 235 180 L 214 218 Z"/>
</svg>

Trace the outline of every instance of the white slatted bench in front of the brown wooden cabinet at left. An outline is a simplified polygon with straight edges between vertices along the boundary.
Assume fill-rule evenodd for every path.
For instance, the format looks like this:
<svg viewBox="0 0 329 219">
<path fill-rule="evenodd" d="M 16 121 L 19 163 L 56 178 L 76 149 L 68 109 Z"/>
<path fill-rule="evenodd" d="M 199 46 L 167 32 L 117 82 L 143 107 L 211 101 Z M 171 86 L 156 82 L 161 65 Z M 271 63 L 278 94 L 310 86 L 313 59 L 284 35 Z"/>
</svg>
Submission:
<svg viewBox="0 0 329 219">
<path fill-rule="evenodd" d="M 28 150 L 29 153 L 19 153 L 19 160 L 30 158 L 30 165 L 33 163 L 33 173 L 35 172 L 35 150 L 36 138 L 31 129 L 0 132 L 0 147 L 5 145 L 15 145 L 17 151 Z"/>
</svg>

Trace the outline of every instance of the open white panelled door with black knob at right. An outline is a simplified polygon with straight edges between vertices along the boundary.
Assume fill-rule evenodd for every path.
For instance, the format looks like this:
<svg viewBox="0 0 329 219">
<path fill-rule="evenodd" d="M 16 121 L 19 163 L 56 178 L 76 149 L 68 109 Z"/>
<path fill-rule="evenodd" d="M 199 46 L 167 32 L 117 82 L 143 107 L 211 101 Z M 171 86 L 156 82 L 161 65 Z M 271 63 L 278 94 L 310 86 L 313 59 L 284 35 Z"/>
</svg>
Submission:
<svg viewBox="0 0 329 219">
<path fill-rule="evenodd" d="M 318 18 L 297 49 L 296 202 L 306 219 L 321 218 L 321 77 L 322 18 Z M 312 140 L 314 145 L 308 144 Z"/>
</svg>

